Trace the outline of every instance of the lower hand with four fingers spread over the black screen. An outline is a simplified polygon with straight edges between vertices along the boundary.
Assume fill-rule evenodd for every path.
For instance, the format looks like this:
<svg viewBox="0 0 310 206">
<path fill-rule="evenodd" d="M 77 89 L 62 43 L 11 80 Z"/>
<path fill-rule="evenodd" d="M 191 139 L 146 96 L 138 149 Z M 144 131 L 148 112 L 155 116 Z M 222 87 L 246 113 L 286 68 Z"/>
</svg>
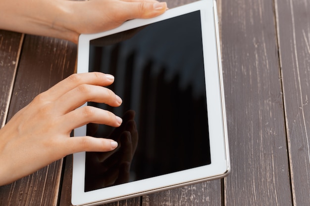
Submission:
<svg viewBox="0 0 310 206">
<path fill-rule="evenodd" d="M 90 136 L 70 137 L 88 123 L 118 127 L 111 112 L 85 106 L 87 101 L 120 106 L 122 100 L 104 86 L 114 81 L 103 73 L 74 74 L 39 94 L 0 129 L 0 185 L 81 151 L 111 151 L 117 142 Z"/>
</svg>

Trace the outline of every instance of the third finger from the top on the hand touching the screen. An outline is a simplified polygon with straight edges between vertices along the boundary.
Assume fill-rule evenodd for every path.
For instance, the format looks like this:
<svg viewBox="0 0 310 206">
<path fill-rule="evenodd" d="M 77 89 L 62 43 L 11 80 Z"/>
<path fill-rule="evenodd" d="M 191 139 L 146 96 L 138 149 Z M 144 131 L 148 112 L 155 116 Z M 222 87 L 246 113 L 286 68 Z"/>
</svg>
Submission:
<svg viewBox="0 0 310 206">
<path fill-rule="evenodd" d="M 88 123 L 118 127 L 122 119 L 113 113 L 96 107 L 85 106 L 65 114 L 60 119 L 63 128 L 75 129 Z"/>
</svg>

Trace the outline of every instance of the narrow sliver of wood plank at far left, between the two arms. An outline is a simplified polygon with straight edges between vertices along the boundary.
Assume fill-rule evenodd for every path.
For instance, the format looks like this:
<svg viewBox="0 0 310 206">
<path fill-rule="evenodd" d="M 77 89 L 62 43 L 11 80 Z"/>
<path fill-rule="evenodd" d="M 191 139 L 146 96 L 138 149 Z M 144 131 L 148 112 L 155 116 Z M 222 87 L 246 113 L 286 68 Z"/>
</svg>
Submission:
<svg viewBox="0 0 310 206">
<path fill-rule="evenodd" d="M 4 126 L 23 35 L 0 30 L 0 128 Z"/>
</svg>

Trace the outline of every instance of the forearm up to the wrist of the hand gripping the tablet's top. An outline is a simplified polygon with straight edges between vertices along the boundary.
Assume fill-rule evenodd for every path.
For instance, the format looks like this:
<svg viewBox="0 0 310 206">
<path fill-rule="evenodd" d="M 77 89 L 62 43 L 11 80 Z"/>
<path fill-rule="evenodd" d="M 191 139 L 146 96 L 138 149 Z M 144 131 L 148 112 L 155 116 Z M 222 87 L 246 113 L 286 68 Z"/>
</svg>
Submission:
<svg viewBox="0 0 310 206">
<path fill-rule="evenodd" d="M 77 34 L 66 28 L 68 8 L 66 0 L 0 0 L 0 28 L 73 40 Z"/>
</svg>

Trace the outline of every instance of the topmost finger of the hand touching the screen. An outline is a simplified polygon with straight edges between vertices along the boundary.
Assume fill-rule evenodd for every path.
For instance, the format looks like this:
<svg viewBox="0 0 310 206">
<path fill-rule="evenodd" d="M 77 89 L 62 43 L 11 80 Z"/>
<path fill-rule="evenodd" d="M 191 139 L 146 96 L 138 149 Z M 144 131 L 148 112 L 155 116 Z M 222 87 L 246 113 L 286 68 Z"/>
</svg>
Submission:
<svg viewBox="0 0 310 206">
<path fill-rule="evenodd" d="M 64 93 L 82 84 L 92 84 L 99 86 L 108 86 L 114 82 L 114 77 L 100 72 L 89 72 L 82 74 L 73 74 L 66 79 L 58 82 L 52 88 L 44 92 L 51 101 L 59 98 Z"/>
</svg>

